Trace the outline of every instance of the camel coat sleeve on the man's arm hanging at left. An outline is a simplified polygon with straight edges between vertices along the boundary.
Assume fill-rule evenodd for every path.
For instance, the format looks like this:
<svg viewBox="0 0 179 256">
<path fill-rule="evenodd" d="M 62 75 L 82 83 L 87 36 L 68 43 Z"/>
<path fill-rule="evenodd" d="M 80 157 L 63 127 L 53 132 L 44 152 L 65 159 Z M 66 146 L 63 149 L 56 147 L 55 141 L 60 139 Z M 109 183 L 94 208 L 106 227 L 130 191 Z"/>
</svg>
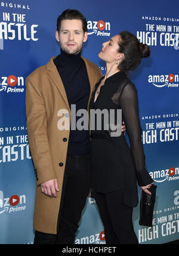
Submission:
<svg viewBox="0 0 179 256">
<path fill-rule="evenodd" d="M 36 172 L 36 183 L 39 185 L 56 177 L 47 135 L 44 98 L 35 82 L 29 77 L 26 78 L 26 118 L 30 152 Z"/>
</svg>

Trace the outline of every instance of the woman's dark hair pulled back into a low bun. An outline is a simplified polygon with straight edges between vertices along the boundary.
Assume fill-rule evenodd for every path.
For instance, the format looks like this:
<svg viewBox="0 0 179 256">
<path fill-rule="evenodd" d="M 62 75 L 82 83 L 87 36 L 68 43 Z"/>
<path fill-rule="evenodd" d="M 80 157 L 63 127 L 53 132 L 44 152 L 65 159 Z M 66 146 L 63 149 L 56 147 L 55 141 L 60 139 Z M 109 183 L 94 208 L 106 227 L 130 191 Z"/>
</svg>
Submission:
<svg viewBox="0 0 179 256">
<path fill-rule="evenodd" d="M 119 53 L 124 53 L 124 60 L 119 64 L 118 69 L 124 72 L 134 70 L 140 64 L 141 58 L 150 56 L 150 48 L 140 43 L 137 37 L 128 31 L 122 31 L 119 36 Z"/>
</svg>

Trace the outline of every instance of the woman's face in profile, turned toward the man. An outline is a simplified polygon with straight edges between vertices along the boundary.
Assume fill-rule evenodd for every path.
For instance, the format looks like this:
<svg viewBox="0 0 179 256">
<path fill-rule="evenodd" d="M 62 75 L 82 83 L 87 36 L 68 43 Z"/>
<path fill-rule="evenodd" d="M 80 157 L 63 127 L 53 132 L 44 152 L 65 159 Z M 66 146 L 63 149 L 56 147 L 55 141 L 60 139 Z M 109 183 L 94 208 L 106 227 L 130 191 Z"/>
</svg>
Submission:
<svg viewBox="0 0 179 256">
<path fill-rule="evenodd" d="M 109 41 L 103 43 L 103 48 L 101 49 L 98 57 L 107 63 L 113 63 L 115 60 L 119 59 L 119 42 L 120 36 L 113 36 Z"/>
</svg>

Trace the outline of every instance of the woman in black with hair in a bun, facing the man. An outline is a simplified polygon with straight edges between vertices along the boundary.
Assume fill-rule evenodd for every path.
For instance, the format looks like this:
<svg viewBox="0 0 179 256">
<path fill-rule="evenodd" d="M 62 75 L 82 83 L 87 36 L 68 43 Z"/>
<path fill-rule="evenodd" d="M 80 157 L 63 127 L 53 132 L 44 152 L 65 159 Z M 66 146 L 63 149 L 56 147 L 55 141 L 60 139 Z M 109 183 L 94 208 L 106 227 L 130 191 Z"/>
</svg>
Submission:
<svg viewBox="0 0 179 256">
<path fill-rule="evenodd" d="M 137 182 L 149 194 L 147 189 L 153 182 L 144 164 L 137 90 L 126 76 L 128 70 L 134 70 L 140 64 L 141 58 L 149 55 L 150 48 L 126 31 L 105 42 L 98 54 L 106 61 L 106 75 L 95 85 L 90 101 L 90 121 L 92 110 L 104 113 L 106 109 L 110 113 L 113 109 L 117 112 L 115 117 L 113 115 L 113 125 L 110 117 L 106 125 L 103 115 L 101 129 L 96 125 L 97 115 L 95 124 L 91 122 L 94 125 L 91 128 L 91 194 L 103 221 L 106 243 L 138 243 L 132 224 L 132 207 L 138 203 Z M 113 129 L 116 124 L 120 127 L 117 117 L 120 109 L 130 148 L 124 132 L 119 135 L 118 128 Z"/>
</svg>

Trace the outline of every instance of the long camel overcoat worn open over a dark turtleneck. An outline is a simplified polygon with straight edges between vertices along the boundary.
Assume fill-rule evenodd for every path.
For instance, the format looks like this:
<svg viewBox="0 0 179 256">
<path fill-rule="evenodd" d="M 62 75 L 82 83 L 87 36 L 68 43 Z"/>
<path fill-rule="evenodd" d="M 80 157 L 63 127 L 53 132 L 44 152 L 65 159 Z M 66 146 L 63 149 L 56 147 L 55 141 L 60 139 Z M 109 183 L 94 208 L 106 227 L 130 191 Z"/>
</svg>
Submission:
<svg viewBox="0 0 179 256">
<path fill-rule="evenodd" d="M 27 134 L 36 175 L 33 228 L 39 232 L 50 234 L 57 233 L 70 132 L 69 129 L 59 129 L 58 121 L 61 118 L 59 110 L 66 110 L 67 115 L 63 115 L 63 118 L 65 118 L 65 122 L 69 123 L 69 127 L 71 119 L 67 95 L 53 62 L 54 58 L 26 78 Z M 91 98 L 94 86 L 101 78 L 101 71 L 90 60 L 82 58 L 87 67 Z M 51 198 L 42 193 L 40 186 L 41 183 L 54 178 L 57 178 L 58 181 L 57 198 Z"/>
</svg>

